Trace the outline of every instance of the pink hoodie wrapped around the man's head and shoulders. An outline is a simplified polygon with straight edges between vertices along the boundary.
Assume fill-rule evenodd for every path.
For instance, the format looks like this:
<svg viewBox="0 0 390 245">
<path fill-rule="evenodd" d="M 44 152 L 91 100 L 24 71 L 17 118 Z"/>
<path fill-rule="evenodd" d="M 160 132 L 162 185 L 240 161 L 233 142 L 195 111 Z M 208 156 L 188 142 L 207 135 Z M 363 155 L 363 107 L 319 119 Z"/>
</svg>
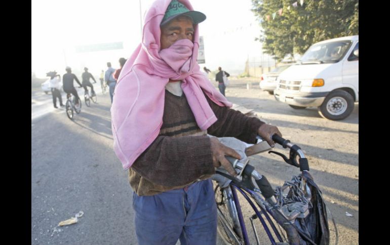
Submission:
<svg viewBox="0 0 390 245">
<path fill-rule="evenodd" d="M 219 106 L 231 107 L 200 71 L 198 25 L 194 25 L 193 43 L 182 39 L 160 51 L 160 23 L 170 2 L 157 0 L 146 13 L 142 43 L 124 65 L 115 87 L 111 106 L 114 151 L 125 170 L 159 135 L 169 79 L 182 81 L 183 92 L 202 130 L 217 121 L 203 92 Z M 179 2 L 193 10 L 187 0 Z"/>
</svg>

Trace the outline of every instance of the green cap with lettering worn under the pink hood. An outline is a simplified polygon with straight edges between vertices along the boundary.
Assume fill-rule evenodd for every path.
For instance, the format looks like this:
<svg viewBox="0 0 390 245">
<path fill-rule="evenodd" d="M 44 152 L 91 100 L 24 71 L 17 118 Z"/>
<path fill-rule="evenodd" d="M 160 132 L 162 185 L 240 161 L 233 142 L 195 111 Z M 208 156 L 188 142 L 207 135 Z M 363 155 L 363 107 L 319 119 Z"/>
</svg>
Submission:
<svg viewBox="0 0 390 245">
<path fill-rule="evenodd" d="M 161 21 L 160 25 L 165 25 L 175 17 L 179 15 L 185 15 L 192 19 L 193 24 L 201 23 L 206 20 L 206 15 L 198 11 L 190 11 L 183 4 L 177 2 L 177 0 L 172 0 L 168 5 L 167 11 L 165 12 L 164 18 Z"/>
</svg>

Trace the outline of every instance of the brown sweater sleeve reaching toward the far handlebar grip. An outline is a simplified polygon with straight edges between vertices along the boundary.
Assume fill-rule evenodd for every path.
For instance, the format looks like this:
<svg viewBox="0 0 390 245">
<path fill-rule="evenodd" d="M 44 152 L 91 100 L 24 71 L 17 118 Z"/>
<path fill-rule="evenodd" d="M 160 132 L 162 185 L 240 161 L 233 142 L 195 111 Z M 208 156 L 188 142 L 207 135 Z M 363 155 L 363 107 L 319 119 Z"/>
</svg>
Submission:
<svg viewBox="0 0 390 245">
<path fill-rule="evenodd" d="M 205 96 L 217 117 L 217 121 L 207 130 L 209 134 L 217 137 L 236 137 L 247 143 L 256 143 L 257 131 L 264 122 L 256 117 L 248 117 L 240 111 L 220 107 Z"/>
</svg>

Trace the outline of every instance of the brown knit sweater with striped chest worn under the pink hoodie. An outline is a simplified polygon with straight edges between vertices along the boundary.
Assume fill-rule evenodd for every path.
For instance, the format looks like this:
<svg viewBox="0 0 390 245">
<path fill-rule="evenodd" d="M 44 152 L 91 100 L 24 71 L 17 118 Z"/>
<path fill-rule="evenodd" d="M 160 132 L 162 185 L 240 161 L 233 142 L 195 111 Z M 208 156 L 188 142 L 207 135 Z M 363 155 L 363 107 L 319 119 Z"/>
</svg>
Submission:
<svg viewBox="0 0 390 245">
<path fill-rule="evenodd" d="M 129 169 L 130 185 L 138 195 L 183 188 L 215 174 L 207 133 L 255 143 L 257 130 L 263 122 L 220 107 L 205 96 L 218 119 L 207 132 L 198 127 L 184 93 L 176 96 L 165 91 L 160 134 Z"/>
</svg>

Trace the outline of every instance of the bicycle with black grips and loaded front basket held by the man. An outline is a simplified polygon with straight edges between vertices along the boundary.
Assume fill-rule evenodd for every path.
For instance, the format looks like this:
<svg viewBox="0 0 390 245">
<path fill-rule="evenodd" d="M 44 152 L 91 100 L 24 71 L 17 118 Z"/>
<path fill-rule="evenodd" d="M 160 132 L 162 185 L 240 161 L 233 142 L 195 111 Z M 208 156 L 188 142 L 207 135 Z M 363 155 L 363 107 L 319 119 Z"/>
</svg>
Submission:
<svg viewBox="0 0 390 245">
<path fill-rule="evenodd" d="M 275 151 L 268 153 L 277 154 L 288 164 L 299 167 L 301 174 L 293 176 L 291 181 L 286 181 L 283 186 L 278 186 L 274 190 L 265 176 L 248 164 L 248 158 L 237 160 L 226 157 L 239 174 L 238 177 L 232 177 L 226 170 L 219 168 L 212 177 L 217 204 L 217 231 L 221 244 L 241 245 L 254 242 L 261 244 L 259 235 L 262 235 L 261 240 L 266 240 L 263 244 L 308 245 L 330 244 L 330 242 L 337 244 L 338 231 L 335 221 L 333 217 L 331 220 L 328 218 L 331 213 L 326 208 L 321 191 L 308 172 L 308 161 L 302 150 L 296 144 L 278 135 L 272 135 L 272 139 L 284 148 L 290 149 L 290 158 Z M 267 146 L 269 149 L 268 144 Z M 253 184 L 252 178 L 255 179 L 257 187 Z M 253 215 L 251 212 L 244 214 L 242 209 L 244 205 L 240 203 L 237 192 L 241 193 L 241 203 L 249 204 L 253 209 Z M 316 209 L 318 208 L 316 202 L 321 204 L 318 206 L 323 209 L 320 216 L 325 220 L 321 221 L 321 218 L 316 216 L 316 212 L 320 212 Z M 256 204 L 260 210 L 257 209 Z M 259 220 L 261 226 L 255 224 L 255 220 Z M 315 223 L 315 230 L 307 226 L 308 220 Z M 246 227 L 249 223 L 252 227 L 251 237 Z M 332 224 L 331 229 L 329 223 Z"/>
</svg>

